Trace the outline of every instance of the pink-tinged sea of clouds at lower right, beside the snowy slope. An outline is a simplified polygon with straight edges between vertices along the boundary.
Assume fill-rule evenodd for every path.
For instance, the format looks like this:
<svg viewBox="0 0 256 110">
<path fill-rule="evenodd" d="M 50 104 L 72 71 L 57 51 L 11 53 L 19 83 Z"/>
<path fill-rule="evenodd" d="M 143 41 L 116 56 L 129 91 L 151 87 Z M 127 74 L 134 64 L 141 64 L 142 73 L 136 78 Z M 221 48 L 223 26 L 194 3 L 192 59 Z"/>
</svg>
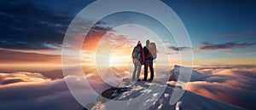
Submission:
<svg viewBox="0 0 256 110">
<path fill-rule="evenodd" d="M 201 80 L 189 82 L 188 90 L 201 96 L 255 109 L 256 67 L 199 67 Z"/>
</svg>

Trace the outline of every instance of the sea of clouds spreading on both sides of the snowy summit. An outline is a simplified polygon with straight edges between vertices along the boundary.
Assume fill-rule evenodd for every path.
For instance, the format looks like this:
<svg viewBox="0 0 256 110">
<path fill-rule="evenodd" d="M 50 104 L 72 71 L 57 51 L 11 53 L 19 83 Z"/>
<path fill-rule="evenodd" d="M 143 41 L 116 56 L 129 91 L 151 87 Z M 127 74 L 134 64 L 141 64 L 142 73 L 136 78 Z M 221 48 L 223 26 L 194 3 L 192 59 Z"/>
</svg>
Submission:
<svg viewBox="0 0 256 110">
<path fill-rule="evenodd" d="M 192 75 L 188 90 L 207 96 L 214 100 L 225 101 L 247 109 L 255 109 L 256 99 L 256 67 L 254 66 L 201 66 L 195 68 L 198 72 Z M 112 68 L 117 78 L 129 77 L 126 70 Z M 103 71 L 102 71 L 103 72 Z M 156 78 L 164 78 L 167 74 L 157 72 Z M 48 74 L 49 75 L 49 74 Z M 109 72 L 96 74 L 92 69 L 86 72 L 90 86 L 101 94 L 109 85 L 102 82 L 116 84 L 118 81 L 109 78 Z M 157 74 L 156 74 L 157 75 Z M 131 76 L 130 76 L 131 77 Z M 66 76 L 73 84 L 82 84 L 80 78 Z M 79 89 L 78 85 L 78 89 Z M 50 78 L 41 72 L 9 72 L 0 73 L 0 107 L 4 109 L 82 109 L 73 99 L 63 78 Z M 85 100 L 94 101 L 96 96 L 90 93 Z M 63 103 L 69 103 L 68 106 Z M 15 106 L 13 106 L 15 105 Z"/>
</svg>

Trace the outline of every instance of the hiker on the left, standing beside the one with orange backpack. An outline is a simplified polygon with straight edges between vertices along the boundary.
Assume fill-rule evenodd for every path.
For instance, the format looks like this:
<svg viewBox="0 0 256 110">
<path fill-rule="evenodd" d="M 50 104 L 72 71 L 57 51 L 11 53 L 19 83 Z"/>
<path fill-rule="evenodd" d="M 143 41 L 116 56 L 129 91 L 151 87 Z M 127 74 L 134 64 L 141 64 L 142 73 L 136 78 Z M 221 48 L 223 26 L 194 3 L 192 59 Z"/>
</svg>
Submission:
<svg viewBox="0 0 256 110">
<path fill-rule="evenodd" d="M 134 64 L 132 80 L 139 81 L 140 80 L 139 77 L 140 77 L 141 70 L 142 70 L 142 65 L 145 61 L 143 46 L 140 41 L 137 42 L 137 46 L 134 47 L 134 49 L 132 50 L 132 61 Z M 137 72 L 137 74 L 136 74 L 136 72 Z"/>
</svg>

